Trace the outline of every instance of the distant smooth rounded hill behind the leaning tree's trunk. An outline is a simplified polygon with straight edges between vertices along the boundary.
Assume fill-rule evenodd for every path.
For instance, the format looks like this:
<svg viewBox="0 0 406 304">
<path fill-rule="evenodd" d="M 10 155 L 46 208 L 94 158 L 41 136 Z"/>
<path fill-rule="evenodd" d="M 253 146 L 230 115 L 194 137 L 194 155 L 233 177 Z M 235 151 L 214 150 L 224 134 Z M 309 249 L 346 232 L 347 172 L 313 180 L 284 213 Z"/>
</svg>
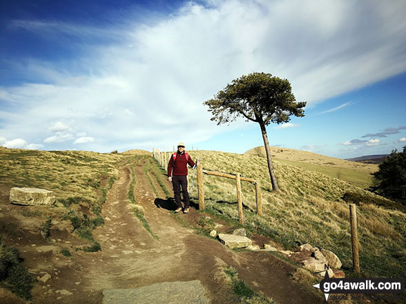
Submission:
<svg viewBox="0 0 406 304">
<path fill-rule="evenodd" d="M 355 163 L 354 161 L 336 159 L 307 151 L 276 147 L 271 147 L 271 151 L 272 157 L 280 163 L 320 172 L 360 188 L 368 188 L 373 185 L 371 173 L 378 171 L 376 164 Z M 260 156 L 265 159 L 267 157 L 263 146 L 253 148 L 244 154 Z"/>
</svg>

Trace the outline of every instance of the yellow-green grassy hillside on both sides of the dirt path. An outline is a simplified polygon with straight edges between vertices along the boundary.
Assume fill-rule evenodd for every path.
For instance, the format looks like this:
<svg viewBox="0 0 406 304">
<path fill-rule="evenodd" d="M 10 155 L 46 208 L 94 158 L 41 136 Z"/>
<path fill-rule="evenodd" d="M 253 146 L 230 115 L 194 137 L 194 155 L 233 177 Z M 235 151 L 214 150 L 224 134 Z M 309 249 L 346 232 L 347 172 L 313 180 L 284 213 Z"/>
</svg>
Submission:
<svg viewBox="0 0 406 304">
<path fill-rule="evenodd" d="M 349 165 L 350 162 L 323 159 L 324 156 L 318 159 L 307 152 L 303 152 L 301 156 L 291 154 L 292 157 L 289 158 L 289 150 L 279 150 L 282 152 L 275 152 L 274 167 L 280 192 L 271 192 L 267 161 L 258 157 L 258 154 L 241 155 L 216 151 L 190 151 L 189 154 L 193 159 L 198 157 L 206 170 L 232 174 L 240 172 L 242 176 L 261 182 L 263 216 L 255 214 L 253 185 L 242 183 L 247 229 L 270 236 L 285 249 L 294 249 L 298 243 L 311 243 L 329 249 L 340 257 L 347 274 L 351 274 L 349 207 L 342 198 L 346 192 L 351 192 L 353 196 L 361 198 L 358 202 L 358 233 L 363 274 L 399 277 L 402 272 L 406 272 L 405 213 L 374 205 L 371 202 L 379 201 L 383 205 L 392 203 L 358 188 L 355 182 L 349 183 L 331 174 L 307 168 L 307 165 L 319 166 L 322 163 L 327 169 L 359 168 L 359 171 L 368 175 L 368 170 L 372 170 L 373 166 L 358 163 Z M 40 223 L 45 223 L 50 216 L 52 219 L 66 219 L 72 225 L 79 223 L 76 230 L 79 237 L 86 236 L 94 227 L 103 224 L 103 219 L 99 216 L 100 208 L 107 190 L 117 178 L 119 165 L 141 155 L 146 159 L 151 157 L 150 152 L 138 150 L 99 154 L 0 148 L 1 199 L 8 201 L 10 188 L 14 186 L 53 190 L 58 198 L 55 207 L 40 207 L 35 214 L 25 212 L 16 216 L 29 216 Z M 155 164 L 152 159 L 148 163 Z M 352 165 L 356 165 L 355 169 Z M 190 173 L 189 179 L 193 176 L 193 172 Z M 208 212 L 238 221 L 235 181 L 204 176 L 204 191 Z M 171 190 L 168 194 L 172 195 Z M 197 203 L 196 185 L 191 197 Z M 97 240 L 88 241 L 93 245 L 97 243 Z"/>
</svg>

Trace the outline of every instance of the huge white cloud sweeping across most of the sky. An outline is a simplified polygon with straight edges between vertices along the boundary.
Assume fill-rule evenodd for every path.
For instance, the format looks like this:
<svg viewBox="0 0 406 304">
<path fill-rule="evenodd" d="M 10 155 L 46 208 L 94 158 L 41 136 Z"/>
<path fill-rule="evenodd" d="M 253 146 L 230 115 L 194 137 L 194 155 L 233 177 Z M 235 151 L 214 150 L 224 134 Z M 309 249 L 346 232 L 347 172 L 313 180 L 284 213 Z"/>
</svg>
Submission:
<svg viewBox="0 0 406 304">
<path fill-rule="evenodd" d="M 2 102 L 19 103 L 19 111 L 0 112 L 1 131 L 37 139 L 48 130 L 44 143 L 64 145 L 92 134 L 97 142 L 75 143 L 99 151 L 204 141 L 226 127 L 210 121 L 202 101 L 242 74 L 287 78 L 296 99 L 311 105 L 404 72 L 405 10 L 404 1 L 230 0 L 187 2 L 148 24 L 128 18 L 124 29 L 16 21 L 52 43 L 77 37 L 81 52 L 63 69 L 21 59 L 21 72 L 38 83 L 0 88 Z M 86 44 L 95 41 L 88 37 L 109 43 Z"/>
</svg>

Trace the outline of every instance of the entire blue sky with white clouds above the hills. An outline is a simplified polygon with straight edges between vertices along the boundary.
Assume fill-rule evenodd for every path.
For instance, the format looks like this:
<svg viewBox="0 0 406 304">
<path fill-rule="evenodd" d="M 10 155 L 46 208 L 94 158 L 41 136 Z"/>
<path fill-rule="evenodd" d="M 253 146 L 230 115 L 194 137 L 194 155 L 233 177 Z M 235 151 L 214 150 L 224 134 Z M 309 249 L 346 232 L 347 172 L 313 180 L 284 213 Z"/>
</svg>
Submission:
<svg viewBox="0 0 406 304">
<path fill-rule="evenodd" d="M 242 75 L 288 79 L 305 117 L 271 145 L 342 159 L 406 145 L 406 1 L 0 0 L 0 145 L 244 153 L 203 102 Z"/>
</svg>

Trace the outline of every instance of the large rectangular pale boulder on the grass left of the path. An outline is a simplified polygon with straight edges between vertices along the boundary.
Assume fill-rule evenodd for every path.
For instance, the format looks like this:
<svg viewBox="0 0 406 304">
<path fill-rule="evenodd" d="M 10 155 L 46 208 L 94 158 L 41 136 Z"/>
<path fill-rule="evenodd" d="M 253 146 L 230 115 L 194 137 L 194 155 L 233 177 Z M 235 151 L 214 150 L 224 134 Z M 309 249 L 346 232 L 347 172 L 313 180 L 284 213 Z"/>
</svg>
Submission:
<svg viewBox="0 0 406 304">
<path fill-rule="evenodd" d="M 11 188 L 10 203 L 18 205 L 52 205 L 55 196 L 52 191 L 39 188 Z"/>
</svg>

